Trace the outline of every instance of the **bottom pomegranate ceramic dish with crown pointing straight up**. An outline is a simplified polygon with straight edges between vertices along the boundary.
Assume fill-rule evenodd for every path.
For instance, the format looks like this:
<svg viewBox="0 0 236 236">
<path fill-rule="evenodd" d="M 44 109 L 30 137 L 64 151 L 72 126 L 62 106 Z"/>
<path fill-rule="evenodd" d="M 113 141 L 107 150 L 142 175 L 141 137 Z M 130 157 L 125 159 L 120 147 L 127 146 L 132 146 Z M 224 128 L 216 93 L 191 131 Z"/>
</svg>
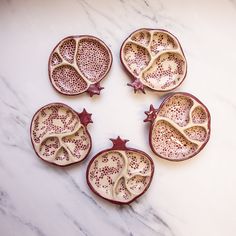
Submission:
<svg viewBox="0 0 236 236">
<path fill-rule="evenodd" d="M 128 140 L 111 139 L 113 147 L 99 152 L 87 168 L 87 183 L 98 196 L 129 204 L 148 189 L 154 164 L 146 153 L 126 147 Z"/>
</svg>

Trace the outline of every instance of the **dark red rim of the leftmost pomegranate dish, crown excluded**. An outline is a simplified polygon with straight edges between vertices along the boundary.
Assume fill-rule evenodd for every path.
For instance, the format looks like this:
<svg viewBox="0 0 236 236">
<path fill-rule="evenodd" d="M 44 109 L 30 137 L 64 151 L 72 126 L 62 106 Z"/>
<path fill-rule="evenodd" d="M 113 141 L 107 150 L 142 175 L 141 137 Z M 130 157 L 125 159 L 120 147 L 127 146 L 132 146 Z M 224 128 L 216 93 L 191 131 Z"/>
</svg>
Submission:
<svg viewBox="0 0 236 236">
<path fill-rule="evenodd" d="M 82 159 L 82 160 L 80 160 L 80 161 L 78 161 L 78 162 L 73 162 L 73 163 L 69 163 L 69 164 L 66 164 L 66 165 L 58 165 L 58 164 L 56 164 L 56 163 L 54 163 L 54 162 L 50 162 L 50 161 L 47 161 L 47 160 L 41 158 L 41 157 L 39 156 L 39 154 L 36 152 L 36 149 L 35 149 L 34 144 L 33 144 L 32 136 L 31 136 L 33 120 L 34 120 L 36 114 L 38 114 L 38 112 L 39 112 L 40 110 L 42 110 L 43 108 L 47 107 L 48 105 L 62 105 L 62 106 L 65 106 L 65 107 L 67 107 L 68 109 L 72 110 L 72 111 L 78 116 L 78 118 L 79 118 L 79 114 L 80 114 L 79 112 L 75 111 L 73 108 L 71 108 L 70 106 L 68 106 L 68 105 L 66 105 L 65 103 L 62 103 L 62 102 L 52 102 L 52 103 L 48 103 L 47 105 L 44 105 L 44 106 L 42 106 L 41 108 L 39 108 L 39 109 L 34 113 L 34 115 L 33 115 L 33 117 L 32 117 L 32 120 L 31 120 L 31 123 L 30 123 L 30 140 L 31 140 L 31 144 L 32 144 L 32 146 L 33 146 L 34 152 L 36 153 L 36 155 L 38 156 L 38 158 L 39 158 L 40 160 L 45 161 L 46 163 L 49 163 L 49 164 L 54 165 L 54 166 L 59 166 L 59 167 L 67 167 L 67 166 L 71 166 L 71 165 L 74 165 L 74 164 L 78 164 L 78 163 L 84 161 L 84 160 L 88 157 L 88 155 L 89 155 L 89 153 L 90 153 L 90 151 L 91 151 L 91 149 L 92 149 L 92 138 L 91 138 L 90 133 L 88 132 L 87 125 L 84 125 L 84 128 L 85 128 L 85 131 L 86 131 L 87 134 L 88 134 L 88 137 L 89 137 L 89 140 L 90 140 L 90 144 L 91 144 L 91 145 L 90 145 L 90 148 L 89 148 L 89 150 L 88 150 L 88 153 L 87 153 L 87 155 L 84 157 L 84 159 Z M 79 120 L 80 120 L 80 118 L 79 118 Z"/>
</svg>

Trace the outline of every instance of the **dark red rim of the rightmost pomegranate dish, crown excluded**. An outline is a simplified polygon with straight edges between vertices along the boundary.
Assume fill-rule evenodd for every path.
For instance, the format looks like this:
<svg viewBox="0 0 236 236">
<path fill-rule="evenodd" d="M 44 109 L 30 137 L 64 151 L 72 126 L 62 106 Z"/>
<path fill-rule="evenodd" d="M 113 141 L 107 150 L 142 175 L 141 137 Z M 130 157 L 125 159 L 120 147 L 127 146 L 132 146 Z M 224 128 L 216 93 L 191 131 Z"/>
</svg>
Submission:
<svg viewBox="0 0 236 236">
<path fill-rule="evenodd" d="M 179 162 L 179 161 L 185 161 L 185 160 L 188 160 L 194 156 L 196 156 L 205 146 L 206 144 L 208 143 L 209 139 L 210 139 L 210 135 L 211 135 L 211 115 L 210 115 L 210 112 L 209 110 L 207 109 L 207 107 L 198 99 L 196 98 L 194 95 L 190 94 L 190 93 L 186 93 L 186 92 L 174 92 L 174 93 L 171 93 L 169 94 L 163 101 L 162 103 L 160 104 L 159 108 L 156 109 L 156 117 L 158 116 L 158 113 L 160 112 L 161 108 L 165 105 L 165 103 L 167 102 L 167 100 L 169 100 L 171 97 L 175 96 L 175 95 L 184 95 L 184 96 L 188 96 L 190 97 L 191 99 L 194 99 L 196 100 L 200 105 L 202 105 L 204 107 L 204 109 L 206 110 L 206 113 L 207 113 L 207 119 L 208 119 L 208 135 L 207 135 L 207 138 L 206 140 L 204 141 L 204 143 L 202 144 L 202 146 L 195 152 L 193 153 L 192 155 L 190 155 L 189 157 L 187 158 L 184 158 L 184 159 L 170 159 L 170 158 L 166 158 L 166 157 L 163 157 L 161 156 L 160 154 L 157 154 L 156 151 L 154 150 L 153 146 L 152 146 L 152 142 L 151 142 L 151 135 L 152 135 L 152 129 L 153 129 L 153 124 L 154 124 L 154 120 L 151 122 L 151 125 L 150 125 L 150 128 L 149 128 L 149 145 L 152 149 L 152 151 L 160 158 L 162 159 L 165 159 L 165 160 L 168 160 L 168 161 L 173 161 L 173 162 Z M 191 114 L 190 114 L 191 115 Z"/>
</svg>

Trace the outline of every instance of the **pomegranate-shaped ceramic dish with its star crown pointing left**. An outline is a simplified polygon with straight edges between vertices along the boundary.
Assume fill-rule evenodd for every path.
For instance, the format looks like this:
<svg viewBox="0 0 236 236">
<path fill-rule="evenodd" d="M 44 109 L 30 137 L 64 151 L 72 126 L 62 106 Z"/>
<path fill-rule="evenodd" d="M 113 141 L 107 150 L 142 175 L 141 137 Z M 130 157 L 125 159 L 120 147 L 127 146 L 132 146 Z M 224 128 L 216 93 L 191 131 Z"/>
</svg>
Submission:
<svg viewBox="0 0 236 236">
<path fill-rule="evenodd" d="M 170 161 L 182 161 L 200 152 L 210 138 L 210 113 L 189 93 L 173 93 L 159 109 L 145 112 L 151 122 L 149 142 L 153 152 Z"/>
</svg>

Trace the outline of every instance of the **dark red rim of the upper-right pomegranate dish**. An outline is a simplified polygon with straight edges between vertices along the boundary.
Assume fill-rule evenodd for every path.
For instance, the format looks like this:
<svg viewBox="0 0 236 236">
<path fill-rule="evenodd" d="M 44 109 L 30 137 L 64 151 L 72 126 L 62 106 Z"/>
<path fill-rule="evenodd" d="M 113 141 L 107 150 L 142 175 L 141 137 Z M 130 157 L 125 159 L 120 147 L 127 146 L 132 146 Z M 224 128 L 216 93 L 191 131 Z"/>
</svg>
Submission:
<svg viewBox="0 0 236 236">
<path fill-rule="evenodd" d="M 183 54 L 183 57 L 184 57 L 185 63 L 186 63 L 185 75 L 184 75 L 183 79 L 181 80 L 181 82 L 180 82 L 176 87 L 174 87 L 174 88 L 172 88 L 172 89 L 168 89 L 168 90 L 156 90 L 156 89 L 150 88 L 150 87 L 148 87 L 148 86 L 146 86 L 146 85 L 144 85 L 144 84 L 143 84 L 143 86 L 144 86 L 145 88 L 147 88 L 147 89 L 150 89 L 151 91 L 162 92 L 162 93 L 170 92 L 170 91 L 172 91 L 172 90 L 178 88 L 178 87 L 184 82 L 184 80 L 185 80 L 185 78 L 186 78 L 186 76 L 187 76 L 188 63 L 187 63 L 187 59 L 186 59 L 186 57 L 185 57 L 183 48 L 182 48 L 182 46 L 181 46 L 179 40 L 177 39 L 177 37 L 174 36 L 174 35 L 173 35 L 172 33 L 170 33 L 169 31 L 164 30 L 164 29 L 140 28 L 140 29 L 137 29 L 137 30 L 135 30 L 134 32 L 132 32 L 132 33 L 123 41 L 123 43 L 122 43 L 122 45 L 121 45 L 121 47 L 120 47 L 120 61 L 121 61 L 121 64 L 123 65 L 123 67 L 125 68 L 126 73 L 128 73 L 129 77 L 131 78 L 131 82 L 133 83 L 135 80 L 139 80 L 139 78 L 136 77 L 136 76 L 134 76 L 134 75 L 127 69 L 125 63 L 123 62 L 123 60 L 122 60 L 122 48 L 123 48 L 125 42 L 131 37 L 131 35 L 135 34 L 135 33 L 138 32 L 138 31 L 142 31 L 142 30 L 146 30 L 146 31 L 148 31 L 148 30 L 159 30 L 159 31 L 163 31 L 163 32 L 166 32 L 166 33 L 170 34 L 170 35 L 178 42 L 179 47 L 180 47 L 180 50 L 182 51 L 182 54 Z M 129 85 L 129 83 L 128 83 L 127 85 Z M 143 93 L 145 93 L 145 92 L 143 92 Z"/>
</svg>

